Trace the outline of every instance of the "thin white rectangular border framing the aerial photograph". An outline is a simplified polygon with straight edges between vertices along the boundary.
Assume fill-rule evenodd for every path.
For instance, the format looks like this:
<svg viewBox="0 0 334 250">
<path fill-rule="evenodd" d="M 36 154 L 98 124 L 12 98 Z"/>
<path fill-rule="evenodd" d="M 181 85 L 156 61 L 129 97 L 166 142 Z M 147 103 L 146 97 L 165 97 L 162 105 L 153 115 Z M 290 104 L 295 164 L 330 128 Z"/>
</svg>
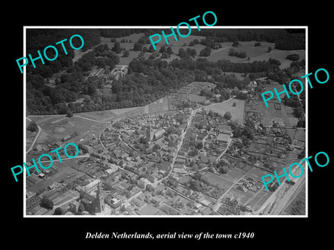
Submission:
<svg viewBox="0 0 334 250">
<path fill-rule="evenodd" d="M 23 56 L 26 57 L 26 29 L 27 28 L 176 28 L 177 26 L 23 26 Z M 180 26 L 179 28 L 187 28 Z M 197 28 L 197 26 L 191 26 Z M 200 26 L 200 28 L 305 28 L 305 74 L 308 74 L 308 26 Z M 200 32 L 200 31 L 199 31 Z M 23 73 L 23 152 L 26 162 L 26 70 Z M 306 86 L 305 80 L 305 86 Z M 308 88 L 305 97 L 305 156 L 308 157 Z M 23 178 L 23 217 L 24 218 L 308 218 L 308 171 L 305 164 L 305 215 L 26 215 L 26 169 Z"/>
</svg>

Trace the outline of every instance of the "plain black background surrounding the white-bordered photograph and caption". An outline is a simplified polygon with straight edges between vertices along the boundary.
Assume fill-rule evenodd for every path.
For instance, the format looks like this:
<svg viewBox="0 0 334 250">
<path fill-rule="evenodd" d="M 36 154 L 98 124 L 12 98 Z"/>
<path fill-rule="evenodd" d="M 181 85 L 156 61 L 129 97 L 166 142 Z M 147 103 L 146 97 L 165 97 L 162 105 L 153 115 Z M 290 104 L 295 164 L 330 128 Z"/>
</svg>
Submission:
<svg viewBox="0 0 334 250">
<path fill-rule="evenodd" d="M 31 247 L 85 247 L 116 245 L 150 247 L 153 244 L 196 245 L 215 247 L 300 247 L 309 242 L 328 242 L 331 232 L 333 149 L 333 111 L 331 96 L 334 72 L 330 6 L 326 3 L 214 3 L 193 2 L 182 8 L 171 1 L 149 3 L 81 2 L 70 5 L 59 1 L 46 6 L 6 7 L 9 15 L 1 17 L 3 35 L 2 62 L 2 215 L 4 240 L 23 242 Z M 41 8 L 40 8 L 41 7 Z M 176 26 L 180 22 L 204 14 L 216 13 L 215 26 L 308 26 L 308 72 L 325 68 L 330 74 L 327 83 L 312 82 L 308 91 L 308 156 L 325 151 L 330 163 L 314 167 L 308 174 L 308 218 L 23 218 L 23 181 L 15 183 L 10 167 L 23 163 L 23 75 L 16 59 L 23 56 L 23 26 Z M 314 79 L 314 78 L 311 78 Z M 314 165 L 314 164 L 313 164 Z M 331 228 L 331 225 L 329 225 Z M 254 232 L 253 239 L 244 240 L 87 240 L 86 232 L 95 233 L 239 233 Z M 29 247 L 29 246 L 26 246 Z M 276 248 L 276 247 L 274 247 Z"/>
</svg>

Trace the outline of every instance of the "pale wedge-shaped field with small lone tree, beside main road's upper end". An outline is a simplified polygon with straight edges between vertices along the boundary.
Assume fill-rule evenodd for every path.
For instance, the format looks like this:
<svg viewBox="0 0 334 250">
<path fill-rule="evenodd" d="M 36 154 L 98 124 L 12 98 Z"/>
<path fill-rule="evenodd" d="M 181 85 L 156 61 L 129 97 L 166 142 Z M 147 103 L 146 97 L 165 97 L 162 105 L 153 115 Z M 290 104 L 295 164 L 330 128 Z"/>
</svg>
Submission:
<svg viewBox="0 0 334 250">
<path fill-rule="evenodd" d="M 233 103 L 236 103 L 236 106 L 232 106 Z M 224 103 L 217 103 L 207 107 L 209 110 L 219 113 L 220 115 L 225 115 L 226 112 L 230 112 L 232 115 L 232 120 L 243 124 L 244 123 L 244 100 L 230 99 Z"/>
</svg>

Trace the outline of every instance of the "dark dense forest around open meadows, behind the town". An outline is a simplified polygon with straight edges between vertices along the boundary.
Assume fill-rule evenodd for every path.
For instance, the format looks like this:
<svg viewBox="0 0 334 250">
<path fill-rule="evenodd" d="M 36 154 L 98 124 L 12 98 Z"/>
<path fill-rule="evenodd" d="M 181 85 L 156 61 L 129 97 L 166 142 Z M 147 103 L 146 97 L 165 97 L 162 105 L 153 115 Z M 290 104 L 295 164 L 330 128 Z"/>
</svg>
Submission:
<svg viewBox="0 0 334 250">
<path fill-rule="evenodd" d="M 283 39 L 283 34 L 289 35 L 284 30 L 276 33 L 267 30 L 253 30 L 244 32 L 215 29 L 216 38 L 228 39 Z M 172 51 L 170 47 L 161 47 L 161 58 L 159 52 L 156 56 L 148 59 L 139 56 L 129 63 L 128 74 L 118 78 L 111 88 L 104 89 L 105 77 L 90 75 L 90 70 L 105 69 L 110 72 L 119 63 L 116 55 L 117 48 L 109 48 L 106 44 L 100 44 L 100 35 L 108 38 L 120 38 L 132 33 L 145 33 L 136 44 L 146 44 L 147 35 L 157 33 L 152 29 L 28 29 L 27 51 L 43 50 L 50 44 L 55 44 L 74 34 L 80 34 L 85 41 L 84 56 L 73 63 L 74 51 L 68 43 L 64 43 L 68 54 L 58 54 L 57 60 L 41 63 L 36 68 L 26 67 L 26 106 L 29 115 L 51 115 L 66 114 L 67 112 L 81 113 L 93 110 L 106 110 L 112 108 L 127 108 L 132 106 L 143 106 L 168 93 L 175 92 L 192 81 L 214 81 L 218 84 L 217 91 L 223 88 L 246 87 L 249 80 L 256 77 L 268 76 L 275 81 L 287 81 L 294 72 L 299 71 L 305 65 L 305 61 L 293 61 L 291 67 L 285 70 L 279 69 L 277 60 L 255 61 L 253 63 L 231 63 L 228 60 L 209 62 L 206 58 L 193 60 L 195 50 L 187 49 L 179 51 L 184 55 L 180 59 L 174 59 L 167 63 L 161 58 L 168 58 Z M 244 33 L 246 36 L 242 36 Z M 212 31 L 203 29 L 200 35 L 212 35 Z M 256 36 L 257 35 L 257 36 Z M 267 35 L 267 37 L 265 36 Z M 293 34 L 295 35 L 295 34 Z M 145 38 L 146 37 L 146 38 Z M 194 44 L 202 43 L 210 47 L 217 46 L 216 38 L 192 41 Z M 74 41 L 75 42 L 75 41 Z M 169 49 L 169 51 L 168 51 Z M 210 49 L 211 50 L 211 49 Z M 196 52 L 196 51 L 195 51 Z M 141 51 L 141 55 L 145 53 Z M 37 61 L 36 61 L 37 64 Z M 248 74 L 248 81 L 237 80 L 234 76 L 225 75 L 224 72 L 239 72 Z M 107 73 L 106 73 L 107 74 Z M 53 78 L 51 82 L 51 78 Z M 283 82 L 282 82 L 283 83 Z"/>
</svg>

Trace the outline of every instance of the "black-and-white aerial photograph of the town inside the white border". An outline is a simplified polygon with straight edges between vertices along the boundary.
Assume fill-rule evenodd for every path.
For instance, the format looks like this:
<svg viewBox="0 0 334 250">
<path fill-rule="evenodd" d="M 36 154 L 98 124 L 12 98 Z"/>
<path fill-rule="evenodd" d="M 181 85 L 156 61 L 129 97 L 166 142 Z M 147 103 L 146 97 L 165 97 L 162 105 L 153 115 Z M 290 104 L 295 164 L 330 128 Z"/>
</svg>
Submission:
<svg viewBox="0 0 334 250">
<path fill-rule="evenodd" d="M 305 158 L 305 91 L 261 96 L 306 74 L 305 28 L 203 27 L 154 50 L 161 30 L 26 28 L 28 53 L 84 47 L 26 66 L 26 165 L 53 165 L 24 177 L 25 215 L 305 215 L 305 174 L 261 178 Z M 77 157 L 50 153 L 68 143 Z"/>
</svg>

